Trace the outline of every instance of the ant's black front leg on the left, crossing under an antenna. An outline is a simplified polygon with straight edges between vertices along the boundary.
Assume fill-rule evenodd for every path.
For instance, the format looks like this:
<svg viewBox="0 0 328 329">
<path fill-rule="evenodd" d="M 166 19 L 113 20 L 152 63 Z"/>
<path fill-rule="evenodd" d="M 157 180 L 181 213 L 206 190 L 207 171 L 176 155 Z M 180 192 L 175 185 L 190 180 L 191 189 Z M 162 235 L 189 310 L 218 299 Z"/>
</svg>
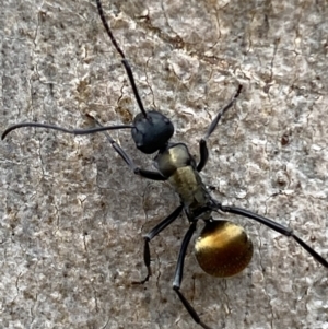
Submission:
<svg viewBox="0 0 328 329">
<path fill-rule="evenodd" d="M 103 125 L 93 116 L 86 115 L 90 119 L 92 119 L 98 127 L 103 127 Z M 109 141 L 112 148 L 117 152 L 117 154 L 125 161 L 125 163 L 131 168 L 131 171 L 143 178 L 148 178 L 151 180 L 166 180 L 167 178 L 161 175 L 159 172 L 145 171 L 138 166 L 136 166 L 134 162 L 131 157 L 124 151 L 121 146 L 119 146 L 116 141 L 110 137 L 107 131 L 104 131 L 107 140 Z"/>
</svg>

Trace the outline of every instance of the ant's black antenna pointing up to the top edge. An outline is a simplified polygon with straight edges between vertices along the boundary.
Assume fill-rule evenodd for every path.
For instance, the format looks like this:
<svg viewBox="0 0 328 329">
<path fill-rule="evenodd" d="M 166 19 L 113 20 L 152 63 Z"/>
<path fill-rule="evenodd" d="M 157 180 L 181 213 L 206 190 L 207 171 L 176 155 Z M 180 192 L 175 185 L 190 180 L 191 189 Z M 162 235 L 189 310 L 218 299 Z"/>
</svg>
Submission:
<svg viewBox="0 0 328 329">
<path fill-rule="evenodd" d="M 101 1 L 96 0 L 96 3 L 97 3 L 97 9 L 98 9 L 98 13 L 99 13 L 99 16 L 102 19 L 103 25 L 104 25 L 104 27 L 105 27 L 105 30 L 106 30 L 106 32 L 107 32 L 110 40 L 112 40 L 112 44 L 116 48 L 116 50 L 120 55 L 120 57 L 122 58 L 121 62 L 122 62 L 126 71 L 127 71 L 128 77 L 129 77 L 129 80 L 130 80 L 130 83 L 131 83 L 131 86 L 132 86 L 133 94 L 134 94 L 134 97 L 137 99 L 138 106 L 139 106 L 140 110 L 141 110 L 141 113 L 143 114 L 143 116 L 145 118 L 148 118 L 147 111 L 145 111 L 145 109 L 143 107 L 143 104 L 142 104 L 141 98 L 140 98 L 139 93 L 138 93 L 138 89 L 137 89 L 137 85 L 136 85 L 136 82 L 134 82 L 134 78 L 133 78 L 133 74 L 132 74 L 131 67 L 130 67 L 128 60 L 126 59 L 126 56 L 125 56 L 124 51 L 119 48 L 119 46 L 118 46 L 118 44 L 117 44 L 117 42 L 116 42 L 116 39 L 115 39 L 115 37 L 114 37 L 110 28 L 109 28 L 109 25 L 108 25 L 108 23 L 107 23 L 107 21 L 105 19 L 105 13 L 104 13 L 104 10 L 103 10 Z"/>
</svg>

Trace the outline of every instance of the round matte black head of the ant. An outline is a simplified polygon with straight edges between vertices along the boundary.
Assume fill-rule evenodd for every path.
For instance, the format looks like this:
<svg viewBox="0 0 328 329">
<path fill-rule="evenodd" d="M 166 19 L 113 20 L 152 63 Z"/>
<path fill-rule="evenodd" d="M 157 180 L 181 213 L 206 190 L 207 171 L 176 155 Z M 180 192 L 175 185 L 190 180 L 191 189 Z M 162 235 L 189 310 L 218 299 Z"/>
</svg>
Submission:
<svg viewBox="0 0 328 329">
<path fill-rule="evenodd" d="M 171 120 L 156 110 L 140 113 L 133 120 L 132 139 L 138 150 L 151 154 L 163 149 L 174 133 Z"/>
</svg>

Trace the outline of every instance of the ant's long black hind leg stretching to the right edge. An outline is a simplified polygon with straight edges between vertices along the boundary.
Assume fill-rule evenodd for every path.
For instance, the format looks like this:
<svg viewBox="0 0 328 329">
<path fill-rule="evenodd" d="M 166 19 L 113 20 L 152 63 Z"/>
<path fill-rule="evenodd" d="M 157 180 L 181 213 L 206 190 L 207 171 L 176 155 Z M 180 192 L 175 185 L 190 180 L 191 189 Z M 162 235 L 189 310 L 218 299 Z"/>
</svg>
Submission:
<svg viewBox="0 0 328 329">
<path fill-rule="evenodd" d="M 302 246 L 314 259 L 316 259 L 319 263 L 321 263 L 325 268 L 328 268 L 328 261 L 320 256 L 317 251 L 315 251 L 311 246 L 308 246 L 303 239 L 301 239 L 297 235 L 293 233 L 293 230 L 286 226 L 283 226 L 272 220 L 269 220 L 265 216 L 261 216 L 259 214 L 256 214 L 251 211 L 248 211 L 246 209 L 236 208 L 236 207 L 227 207 L 222 205 L 221 203 L 216 203 L 218 209 L 220 209 L 223 212 L 230 212 L 234 214 L 242 215 L 244 218 L 248 218 L 250 220 L 255 220 L 261 224 L 267 225 L 268 227 L 279 232 L 282 235 L 285 236 L 292 236 L 294 240 Z"/>
</svg>

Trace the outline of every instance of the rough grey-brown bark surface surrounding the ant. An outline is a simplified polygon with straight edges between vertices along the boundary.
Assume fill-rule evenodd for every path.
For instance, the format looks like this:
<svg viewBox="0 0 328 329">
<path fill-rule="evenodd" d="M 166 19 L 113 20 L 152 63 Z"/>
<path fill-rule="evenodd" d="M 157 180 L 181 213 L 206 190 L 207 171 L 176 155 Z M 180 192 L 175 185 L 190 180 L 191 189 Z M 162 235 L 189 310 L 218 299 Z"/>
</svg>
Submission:
<svg viewBox="0 0 328 329">
<path fill-rule="evenodd" d="M 198 154 L 211 119 L 213 197 L 289 225 L 328 258 L 328 4 L 318 1 L 103 1 L 147 107 Z M 94 1 L 3 1 L 1 131 L 130 122 L 139 111 Z M 143 167 L 129 131 L 113 137 Z M 198 155 L 197 155 L 198 156 Z M 185 216 L 167 184 L 134 176 L 104 134 L 21 129 L 0 143 L 0 328 L 199 328 L 172 290 Z M 328 328 L 328 275 L 292 239 L 247 219 L 249 267 L 221 280 L 192 255 L 181 291 L 212 328 Z M 201 224 L 201 223 L 199 223 Z M 201 228 L 201 225 L 199 225 Z"/>
</svg>

